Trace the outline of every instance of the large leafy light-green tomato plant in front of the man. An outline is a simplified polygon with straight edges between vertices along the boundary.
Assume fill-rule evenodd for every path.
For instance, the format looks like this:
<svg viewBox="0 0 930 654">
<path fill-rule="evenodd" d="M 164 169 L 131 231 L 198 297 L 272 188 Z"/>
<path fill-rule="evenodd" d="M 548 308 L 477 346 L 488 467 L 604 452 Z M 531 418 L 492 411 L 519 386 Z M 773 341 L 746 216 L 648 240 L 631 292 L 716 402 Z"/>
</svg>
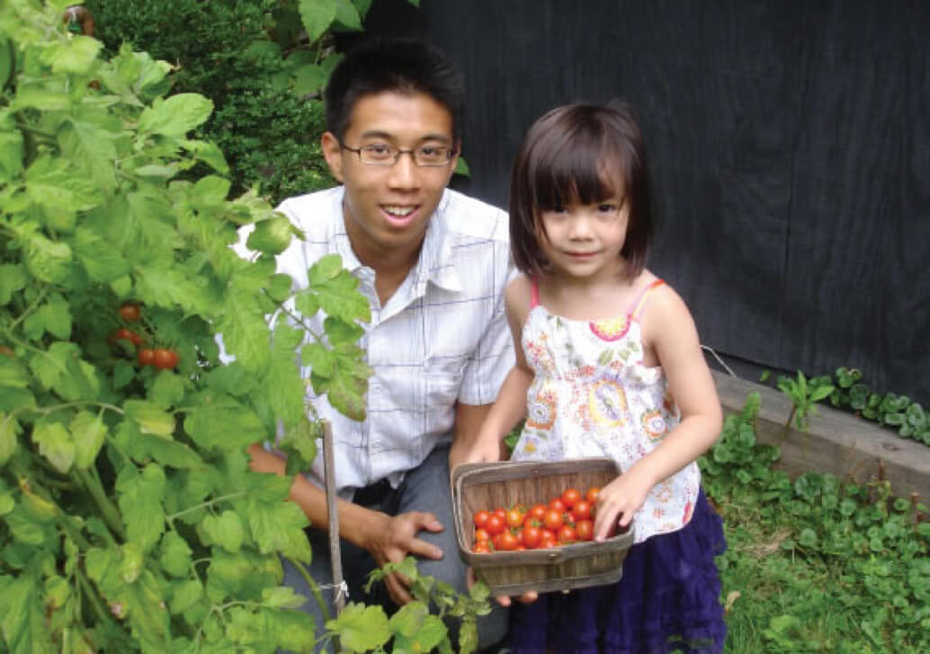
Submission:
<svg viewBox="0 0 930 654">
<path fill-rule="evenodd" d="M 211 102 L 164 98 L 170 67 L 128 46 L 99 59 L 60 10 L 20 0 L 0 20 L 0 51 L 15 54 L 0 61 L 3 642 L 309 650 L 300 598 L 277 587 L 279 555 L 310 560 L 307 520 L 285 502 L 290 479 L 250 472 L 245 448 L 281 425 L 297 464 L 315 456 L 304 342 L 334 344 L 319 346 L 336 360 L 319 388 L 364 415 L 352 336 L 367 305 L 338 261 L 293 292 L 273 254 L 295 234 L 253 193 L 228 200 L 221 151 L 191 136 Z M 229 247 L 242 225 L 259 226 L 250 260 Z M 141 320 L 120 315 L 126 301 Z M 285 303 L 325 308 L 324 333 Z M 140 366 L 137 347 L 179 362 Z"/>
</svg>

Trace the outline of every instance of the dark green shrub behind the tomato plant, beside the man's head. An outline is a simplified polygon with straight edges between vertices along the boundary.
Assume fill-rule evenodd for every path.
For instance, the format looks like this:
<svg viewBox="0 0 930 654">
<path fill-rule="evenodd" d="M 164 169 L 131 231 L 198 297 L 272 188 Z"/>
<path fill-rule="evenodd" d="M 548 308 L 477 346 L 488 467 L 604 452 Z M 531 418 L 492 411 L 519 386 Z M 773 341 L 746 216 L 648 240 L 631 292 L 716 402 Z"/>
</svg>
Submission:
<svg viewBox="0 0 930 654">
<path fill-rule="evenodd" d="M 370 4 L 370 3 L 368 3 Z M 231 162 L 233 192 L 258 187 L 276 203 L 331 186 L 319 147 L 319 93 L 339 55 L 331 29 L 360 30 L 366 3 L 349 0 L 90 0 L 97 33 L 177 68 L 174 92 L 216 105 L 201 136 Z M 312 20 L 312 31 L 300 29 Z M 303 22 L 301 22 L 303 21 Z"/>
</svg>

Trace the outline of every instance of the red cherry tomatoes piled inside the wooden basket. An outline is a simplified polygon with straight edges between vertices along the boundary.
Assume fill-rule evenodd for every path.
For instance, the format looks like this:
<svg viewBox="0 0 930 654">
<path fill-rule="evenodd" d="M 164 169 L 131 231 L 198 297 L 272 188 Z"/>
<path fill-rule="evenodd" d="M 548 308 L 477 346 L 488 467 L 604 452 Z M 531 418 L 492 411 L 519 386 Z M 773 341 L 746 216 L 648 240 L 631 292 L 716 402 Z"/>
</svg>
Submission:
<svg viewBox="0 0 930 654">
<path fill-rule="evenodd" d="M 581 494 L 580 490 L 569 488 L 548 504 L 532 504 L 527 508 L 518 502 L 509 509 L 476 511 L 472 550 L 487 554 L 591 541 L 599 490 L 591 488 Z"/>
</svg>

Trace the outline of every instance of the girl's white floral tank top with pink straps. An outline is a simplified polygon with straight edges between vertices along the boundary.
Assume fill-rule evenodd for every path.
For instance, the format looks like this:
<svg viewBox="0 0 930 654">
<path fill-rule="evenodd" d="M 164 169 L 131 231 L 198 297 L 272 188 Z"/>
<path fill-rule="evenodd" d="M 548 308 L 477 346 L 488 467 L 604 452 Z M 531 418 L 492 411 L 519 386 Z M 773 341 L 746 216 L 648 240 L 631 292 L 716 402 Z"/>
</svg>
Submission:
<svg viewBox="0 0 930 654">
<path fill-rule="evenodd" d="M 526 425 L 512 460 L 607 456 L 625 471 L 678 425 L 680 413 L 661 367 L 643 365 L 639 318 L 663 283 L 654 281 L 617 318 L 569 320 L 539 304 L 532 281 L 522 345 L 536 377 L 526 392 Z M 684 527 L 699 489 L 700 471 L 691 462 L 650 490 L 633 517 L 635 542 Z"/>
</svg>

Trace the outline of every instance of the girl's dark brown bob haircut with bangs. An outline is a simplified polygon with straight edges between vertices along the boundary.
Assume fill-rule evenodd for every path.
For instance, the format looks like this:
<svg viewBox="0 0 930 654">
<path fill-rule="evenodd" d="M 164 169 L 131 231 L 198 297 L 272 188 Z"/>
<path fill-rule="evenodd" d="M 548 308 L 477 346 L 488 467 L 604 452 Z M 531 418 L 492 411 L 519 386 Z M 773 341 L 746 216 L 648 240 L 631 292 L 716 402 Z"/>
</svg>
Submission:
<svg viewBox="0 0 930 654">
<path fill-rule="evenodd" d="M 645 147 L 628 105 L 572 104 L 553 109 L 530 127 L 513 163 L 511 248 L 528 275 L 549 271 L 539 247 L 547 239 L 542 212 L 618 197 L 629 222 L 618 255 L 635 277 L 643 271 L 652 240 L 652 202 Z"/>
</svg>

